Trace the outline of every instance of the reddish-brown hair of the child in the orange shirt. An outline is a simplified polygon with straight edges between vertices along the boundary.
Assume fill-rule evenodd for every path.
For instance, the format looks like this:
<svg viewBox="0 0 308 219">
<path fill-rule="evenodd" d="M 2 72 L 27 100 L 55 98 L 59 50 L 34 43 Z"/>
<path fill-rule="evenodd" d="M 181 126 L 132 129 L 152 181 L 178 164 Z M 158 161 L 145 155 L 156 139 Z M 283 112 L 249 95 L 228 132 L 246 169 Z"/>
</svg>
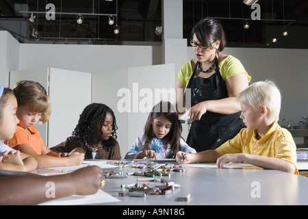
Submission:
<svg viewBox="0 0 308 219">
<path fill-rule="evenodd" d="M 51 115 L 51 103 L 44 87 L 36 81 L 18 81 L 13 92 L 16 96 L 18 107 L 25 107 L 29 112 L 38 112 L 42 116 L 41 123 L 46 123 Z"/>
</svg>

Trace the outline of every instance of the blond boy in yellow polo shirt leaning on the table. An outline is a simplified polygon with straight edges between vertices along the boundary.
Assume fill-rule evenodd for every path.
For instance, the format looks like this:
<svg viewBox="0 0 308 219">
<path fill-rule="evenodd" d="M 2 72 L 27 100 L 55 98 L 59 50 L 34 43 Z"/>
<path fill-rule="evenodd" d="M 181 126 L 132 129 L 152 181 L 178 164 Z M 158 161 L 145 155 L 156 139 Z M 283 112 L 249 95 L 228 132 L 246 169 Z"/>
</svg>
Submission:
<svg viewBox="0 0 308 219">
<path fill-rule="evenodd" d="M 235 138 L 215 150 L 196 154 L 177 153 L 180 164 L 216 162 L 223 164 L 246 162 L 264 169 L 298 174 L 296 145 L 287 129 L 277 120 L 281 108 L 281 94 L 272 81 L 259 81 L 242 91 L 238 97 L 246 128 Z"/>
</svg>

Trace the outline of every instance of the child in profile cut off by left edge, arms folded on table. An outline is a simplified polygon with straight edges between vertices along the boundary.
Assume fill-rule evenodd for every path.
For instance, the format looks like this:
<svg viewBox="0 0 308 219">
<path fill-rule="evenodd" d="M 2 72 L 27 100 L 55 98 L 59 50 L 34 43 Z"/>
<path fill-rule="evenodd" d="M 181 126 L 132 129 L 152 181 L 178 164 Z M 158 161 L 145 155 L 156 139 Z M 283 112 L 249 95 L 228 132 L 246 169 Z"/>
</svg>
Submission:
<svg viewBox="0 0 308 219">
<path fill-rule="evenodd" d="M 0 86 L 0 169 L 15 171 L 35 170 L 38 162 L 34 157 L 15 151 L 5 145 L 2 140 L 13 137 L 17 124 L 17 101 L 10 88 Z"/>
</svg>

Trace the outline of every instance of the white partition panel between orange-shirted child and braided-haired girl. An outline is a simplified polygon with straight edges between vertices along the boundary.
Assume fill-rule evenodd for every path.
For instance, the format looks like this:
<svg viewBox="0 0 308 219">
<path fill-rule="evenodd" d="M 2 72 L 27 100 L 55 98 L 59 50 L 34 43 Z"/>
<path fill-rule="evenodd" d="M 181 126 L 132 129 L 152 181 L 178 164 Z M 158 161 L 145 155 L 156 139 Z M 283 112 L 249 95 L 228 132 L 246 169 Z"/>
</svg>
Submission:
<svg viewBox="0 0 308 219">
<path fill-rule="evenodd" d="M 51 68 L 49 80 L 52 112 L 47 145 L 51 147 L 72 135 L 79 115 L 91 103 L 92 74 Z"/>
</svg>

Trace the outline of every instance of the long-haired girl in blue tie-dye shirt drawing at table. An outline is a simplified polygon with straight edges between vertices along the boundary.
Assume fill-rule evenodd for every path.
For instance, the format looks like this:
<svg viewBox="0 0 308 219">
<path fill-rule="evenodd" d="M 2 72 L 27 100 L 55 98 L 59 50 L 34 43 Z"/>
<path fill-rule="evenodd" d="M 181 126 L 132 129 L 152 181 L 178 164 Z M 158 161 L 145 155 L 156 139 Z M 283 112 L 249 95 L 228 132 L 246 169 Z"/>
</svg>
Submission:
<svg viewBox="0 0 308 219">
<path fill-rule="evenodd" d="M 125 159 L 164 159 L 175 157 L 178 151 L 196 153 L 181 138 L 181 122 L 170 102 L 160 101 L 152 109 L 140 134 Z"/>
</svg>

